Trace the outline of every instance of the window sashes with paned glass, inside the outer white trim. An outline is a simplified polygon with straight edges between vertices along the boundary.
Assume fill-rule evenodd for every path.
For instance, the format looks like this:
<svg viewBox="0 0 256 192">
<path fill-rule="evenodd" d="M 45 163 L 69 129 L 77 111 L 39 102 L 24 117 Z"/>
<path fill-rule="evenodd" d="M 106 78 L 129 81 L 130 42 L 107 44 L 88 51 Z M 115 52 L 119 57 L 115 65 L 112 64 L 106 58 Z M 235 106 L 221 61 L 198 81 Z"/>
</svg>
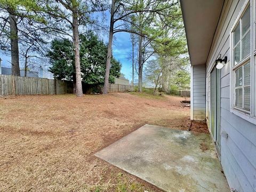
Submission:
<svg viewBox="0 0 256 192">
<path fill-rule="evenodd" d="M 251 11 L 247 5 L 236 23 L 233 35 L 233 107 L 251 111 Z"/>
</svg>

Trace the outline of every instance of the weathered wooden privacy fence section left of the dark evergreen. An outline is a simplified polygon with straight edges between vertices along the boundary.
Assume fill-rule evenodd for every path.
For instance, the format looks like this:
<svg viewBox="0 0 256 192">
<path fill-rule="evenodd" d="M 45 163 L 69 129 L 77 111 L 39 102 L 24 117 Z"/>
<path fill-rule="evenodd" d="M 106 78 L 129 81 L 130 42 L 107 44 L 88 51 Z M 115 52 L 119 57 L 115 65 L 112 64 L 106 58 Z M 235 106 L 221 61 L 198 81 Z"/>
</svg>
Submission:
<svg viewBox="0 0 256 192">
<path fill-rule="evenodd" d="M 72 82 L 0 75 L 0 95 L 66 94 L 73 92 Z"/>
</svg>

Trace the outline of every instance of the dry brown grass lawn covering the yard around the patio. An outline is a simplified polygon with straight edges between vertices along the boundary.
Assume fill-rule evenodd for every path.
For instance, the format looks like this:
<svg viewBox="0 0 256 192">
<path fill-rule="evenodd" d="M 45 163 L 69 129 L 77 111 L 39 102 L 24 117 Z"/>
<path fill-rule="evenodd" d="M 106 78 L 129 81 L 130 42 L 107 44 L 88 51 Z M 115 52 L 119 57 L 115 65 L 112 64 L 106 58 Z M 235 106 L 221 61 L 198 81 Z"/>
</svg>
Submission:
<svg viewBox="0 0 256 192">
<path fill-rule="evenodd" d="M 93 154 L 143 124 L 189 129 L 181 100 L 129 93 L 0 98 L 0 191 L 160 191 Z"/>
</svg>

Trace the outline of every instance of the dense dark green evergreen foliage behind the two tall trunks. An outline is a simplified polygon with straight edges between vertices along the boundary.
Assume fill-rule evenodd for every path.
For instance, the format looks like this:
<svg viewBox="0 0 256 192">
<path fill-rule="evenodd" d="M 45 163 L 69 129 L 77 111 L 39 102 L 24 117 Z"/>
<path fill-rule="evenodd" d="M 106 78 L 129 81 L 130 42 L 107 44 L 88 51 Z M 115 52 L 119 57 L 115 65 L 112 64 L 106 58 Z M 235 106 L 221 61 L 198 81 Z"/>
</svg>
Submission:
<svg viewBox="0 0 256 192">
<path fill-rule="evenodd" d="M 98 36 L 90 33 L 80 37 L 80 60 L 82 81 L 86 84 L 103 85 L 106 70 L 107 45 Z M 75 61 L 73 44 L 69 39 L 54 39 L 49 51 L 52 63 L 51 73 L 57 79 L 69 79 L 75 81 Z M 119 77 L 121 64 L 111 58 L 109 83 L 115 83 L 115 77 Z"/>
</svg>

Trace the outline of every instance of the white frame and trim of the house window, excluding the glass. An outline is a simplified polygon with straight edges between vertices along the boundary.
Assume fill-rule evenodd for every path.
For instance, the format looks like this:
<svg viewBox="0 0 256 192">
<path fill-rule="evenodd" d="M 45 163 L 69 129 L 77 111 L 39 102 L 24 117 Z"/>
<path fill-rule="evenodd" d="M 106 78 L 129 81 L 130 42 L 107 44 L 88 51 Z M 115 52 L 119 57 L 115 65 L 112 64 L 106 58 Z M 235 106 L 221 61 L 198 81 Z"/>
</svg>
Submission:
<svg viewBox="0 0 256 192">
<path fill-rule="evenodd" d="M 250 13 L 251 13 L 251 49 L 250 49 L 250 55 L 244 59 L 241 58 L 241 61 L 239 61 L 239 63 L 237 65 L 234 65 L 234 51 L 233 51 L 233 31 L 236 28 L 236 26 L 238 25 L 238 22 L 240 22 L 240 19 L 242 18 L 244 12 L 246 11 L 247 7 L 250 7 Z M 254 63 L 256 62 L 256 45 L 255 45 L 255 25 L 256 25 L 256 21 L 255 21 L 255 0 L 246 0 L 241 11 L 239 12 L 237 19 L 234 22 L 233 27 L 231 27 L 230 30 L 230 112 L 245 119 L 246 121 L 249 121 L 253 124 L 256 124 L 256 107 L 255 104 L 256 103 L 256 83 L 255 83 L 255 65 Z M 240 31 L 241 33 L 242 31 Z M 240 39 L 241 41 L 241 39 Z M 241 46 L 242 46 L 242 42 L 241 42 Z M 241 50 L 241 55 L 242 55 L 242 50 Z M 236 69 L 238 69 L 239 67 L 243 66 L 245 63 L 247 63 L 247 61 L 250 60 L 250 65 L 251 65 L 251 98 L 250 98 L 250 106 L 251 109 L 250 111 L 246 111 L 243 109 L 239 109 L 237 107 L 235 107 L 235 81 L 236 81 L 236 77 L 235 77 L 235 71 Z"/>
</svg>

